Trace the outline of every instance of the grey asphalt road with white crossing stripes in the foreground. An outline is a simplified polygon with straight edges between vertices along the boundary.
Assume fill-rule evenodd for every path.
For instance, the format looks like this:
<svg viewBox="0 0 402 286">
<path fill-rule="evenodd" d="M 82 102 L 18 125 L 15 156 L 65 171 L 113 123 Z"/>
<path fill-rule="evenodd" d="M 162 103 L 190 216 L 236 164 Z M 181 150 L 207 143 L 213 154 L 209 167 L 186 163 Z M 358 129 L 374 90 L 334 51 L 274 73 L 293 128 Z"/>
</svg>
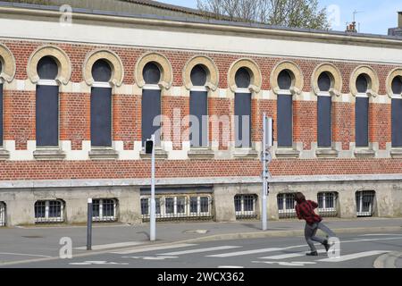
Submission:
<svg viewBox="0 0 402 286">
<path fill-rule="evenodd" d="M 381 255 L 402 249 L 402 234 L 345 234 L 339 236 L 340 256 L 306 257 L 303 237 L 220 240 L 202 243 L 137 246 L 105 250 L 72 259 L 36 257 L 37 262 L 4 268 L 372 268 Z M 15 262 L 15 260 L 14 260 Z"/>
</svg>

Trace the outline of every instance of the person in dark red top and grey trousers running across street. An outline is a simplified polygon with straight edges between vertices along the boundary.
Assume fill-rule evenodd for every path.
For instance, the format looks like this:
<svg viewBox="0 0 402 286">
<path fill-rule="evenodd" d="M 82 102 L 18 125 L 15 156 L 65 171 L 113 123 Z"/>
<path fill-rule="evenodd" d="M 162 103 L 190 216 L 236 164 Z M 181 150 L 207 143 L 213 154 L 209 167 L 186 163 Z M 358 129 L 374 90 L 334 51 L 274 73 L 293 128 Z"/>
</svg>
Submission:
<svg viewBox="0 0 402 286">
<path fill-rule="evenodd" d="M 312 200 L 306 200 L 305 195 L 302 193 L 297 193 L 295 200 L 297 202 L 296 214 L 298 219 L 306 221 L 305 237 L 308 246 L 311 248 L 311 252 L 307 253 L 307 256 L 318 256 L 317 249 L 314 246 L 314 241 L 320 242 L 328 252 L 330 249 L 328 238 L 335 237 L 335 233 L 322 223 L 322 217 L 320 215 L 314 213 L 314 209 L 318 207 L 318 204 Z M 322 239 L 316 236 L 319 229 L 327 233 L 327 239 Z"/>
</svg>

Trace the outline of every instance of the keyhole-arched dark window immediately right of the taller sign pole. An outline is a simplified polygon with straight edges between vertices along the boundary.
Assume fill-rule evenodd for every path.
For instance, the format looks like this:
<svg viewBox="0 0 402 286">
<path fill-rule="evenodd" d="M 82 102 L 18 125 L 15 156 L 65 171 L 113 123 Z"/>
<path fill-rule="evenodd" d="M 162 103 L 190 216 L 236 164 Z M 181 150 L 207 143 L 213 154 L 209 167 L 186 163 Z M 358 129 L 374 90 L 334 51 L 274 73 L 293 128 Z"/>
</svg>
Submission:
<svg viewBox="0 0 402 286">
<path fill-rule="evenodd" d="M 278 147 L 293 147 L 293 96 L 290 92 L 293 80 L 290 72 L 283 70 L 278 76 Z"/>
</svg>

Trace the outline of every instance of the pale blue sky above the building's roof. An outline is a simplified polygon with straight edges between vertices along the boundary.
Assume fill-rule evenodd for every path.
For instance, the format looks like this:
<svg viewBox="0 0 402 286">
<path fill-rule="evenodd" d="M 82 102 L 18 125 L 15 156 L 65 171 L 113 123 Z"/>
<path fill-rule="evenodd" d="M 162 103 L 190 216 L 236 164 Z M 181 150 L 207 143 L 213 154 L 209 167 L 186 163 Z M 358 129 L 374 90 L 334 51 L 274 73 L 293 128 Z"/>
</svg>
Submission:
<svg viewBox="0 0 402 286">
<path fill-rule="evenodd" d="M 159 0 L 160 2 L 197 7 L 197 0 Z M 346 23 L 360 23 L 361 33 L 387 35 L 389 28 L 398 26 L 398 11 L 402 11 L 402 0 L 319 0 L 321 7 L 327 7 L 333 30 L 345 30 Z"/>
</svg>

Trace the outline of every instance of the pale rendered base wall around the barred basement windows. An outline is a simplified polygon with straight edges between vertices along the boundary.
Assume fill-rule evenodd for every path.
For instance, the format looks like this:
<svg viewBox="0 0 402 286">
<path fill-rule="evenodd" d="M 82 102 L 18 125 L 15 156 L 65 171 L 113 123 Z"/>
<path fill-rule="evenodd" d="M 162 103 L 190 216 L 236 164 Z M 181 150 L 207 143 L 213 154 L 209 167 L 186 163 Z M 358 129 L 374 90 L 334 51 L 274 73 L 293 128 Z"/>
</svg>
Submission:
<svg viewBox="0 0 402 286">
<path fill-rule="evenodd" d="M 219 184 L 214 186 L 214 214 L 216 222 L 235 222 L 236 195 L 256 195 L 255 214 L 262 214 L 261 185 L 256 183 Z M 303 192 L 307 199 L 317 201 L 320 192 L 338 193 L 340 218 L 356 218 L 356 191 L 374 190 L 374 216 L 402 216 L 402 184 L 400 181 L 348 182 L 275 182 L 270 186 L 268 219 L 278 220 L 277 196 L 281 193 Z M 141 223 L 139 187 L 92 187 L 49 189 L 0 189 L 0 201 L 6 204 L 7 225 L 34 224 L 34 205 L 38 200 L 61 199 L 65 203 L 65 223 L 87 222 L 88 198 L 118 200 L 117 217 L 121 223 Z"/>
</svg>

